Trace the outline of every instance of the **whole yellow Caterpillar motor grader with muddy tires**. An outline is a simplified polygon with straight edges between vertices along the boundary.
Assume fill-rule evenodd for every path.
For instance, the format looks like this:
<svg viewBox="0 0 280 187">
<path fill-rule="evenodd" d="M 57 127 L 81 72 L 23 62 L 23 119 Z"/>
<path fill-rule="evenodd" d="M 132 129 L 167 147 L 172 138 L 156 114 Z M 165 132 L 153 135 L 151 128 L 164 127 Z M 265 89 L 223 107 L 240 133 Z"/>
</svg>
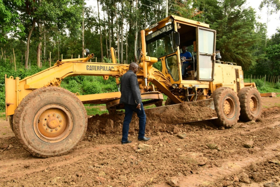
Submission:
<svg viewBox="0 0 280 187">
<path fill-rule="evenodd" d="M 178 16 L 169 16 L 141 31 L 139 89 L 147 117 L 170 115 L 165 123 L 184 123 L 215 119 L 231 127 L 242 119 L 256 120 L 261 115 L 261 97 L 255 84 L 243 82 L 243 72 L 235 63 L 220 61 L 215 51 L 216 31 L 209 25 Z M 192 62 L 182 75 L 183 59 L 179 46 L 188 46 Z M 20 80 L 5 77 L 6 119 L 20 144 L 34 156 L 49 157 L 68 153 L 82 140 L 87 128 L 83 104 L 105 103 L 110 113 L 122 109 L 120 92 L 92 95 L 73 94 L 59 85 L 67 76 L 94 75 L 119 78 L 127 64 L 89 62 L 86 58 L 58 60 L 54 66 Z M 153 64 L 161 64 L 161 70 Z M 163 95 L 168 96 L 161 106 Z M 167 106 L 169 105 L 169 106 Z M 176 120 L 169 107 L 176 111 Z M 196 114 L 209 111 L 209 115 Z"/>
</svg>

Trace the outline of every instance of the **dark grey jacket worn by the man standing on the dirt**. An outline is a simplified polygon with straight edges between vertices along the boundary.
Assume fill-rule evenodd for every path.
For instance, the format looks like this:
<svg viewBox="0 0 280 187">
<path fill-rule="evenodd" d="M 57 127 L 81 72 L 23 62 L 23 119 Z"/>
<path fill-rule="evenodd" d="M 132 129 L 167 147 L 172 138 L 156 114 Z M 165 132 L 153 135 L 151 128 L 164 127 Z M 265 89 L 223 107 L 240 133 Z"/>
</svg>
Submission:
<svg viewBox="0 0 280 187">
<path fill-rule="evenodd" d="M 128 70 L 122 76 L 120 91 L 121 98 L 119 103 L 137 105 L 142 102 L 137 76 L 132 70 Z"/>
</svg>

